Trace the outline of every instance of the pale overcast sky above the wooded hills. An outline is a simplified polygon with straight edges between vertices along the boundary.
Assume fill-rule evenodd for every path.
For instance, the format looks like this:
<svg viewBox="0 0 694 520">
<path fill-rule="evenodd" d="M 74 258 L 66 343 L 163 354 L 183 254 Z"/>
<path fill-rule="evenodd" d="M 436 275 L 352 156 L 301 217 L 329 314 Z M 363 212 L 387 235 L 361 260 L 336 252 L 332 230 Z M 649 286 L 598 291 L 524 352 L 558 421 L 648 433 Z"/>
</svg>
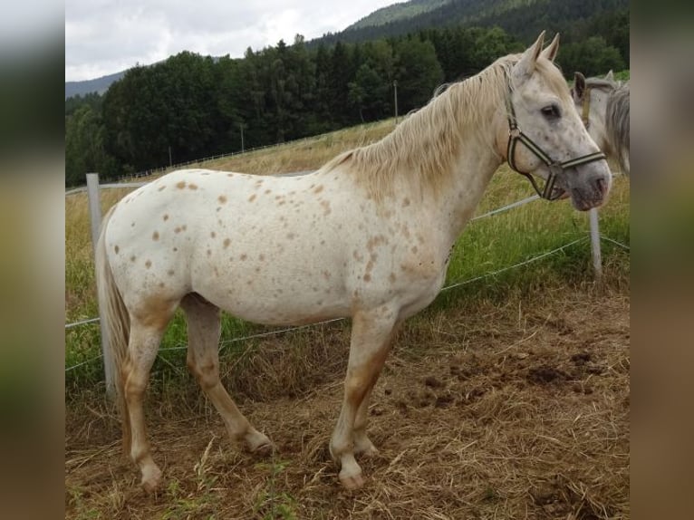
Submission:
<svg viewBox="0 0 694 520">
<path fill-rule="evenodd" d="M 336 33 L 397 0 L 66 0 L 65 81 L 190 51 L 240 58 Z"/>
</svg>

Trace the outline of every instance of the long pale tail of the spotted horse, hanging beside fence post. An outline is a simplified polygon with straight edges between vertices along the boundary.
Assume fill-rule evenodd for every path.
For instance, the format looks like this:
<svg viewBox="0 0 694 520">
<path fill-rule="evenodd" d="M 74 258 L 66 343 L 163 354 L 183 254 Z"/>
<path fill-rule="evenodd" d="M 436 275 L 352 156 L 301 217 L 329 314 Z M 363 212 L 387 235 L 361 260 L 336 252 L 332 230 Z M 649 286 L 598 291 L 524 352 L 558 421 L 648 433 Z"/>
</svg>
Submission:
<svg viewBox="0 0 694 520">
<path fill-rule="evenodd" d="M 123 380 L 123 363 L 128 353 L 128 340 L 130 338 L 130 315 L 125 308 L 125 303 L 120 295 L 109 257 L 106 255 L 106 229 L 111 219 L 114 207 L 103 217 L 99 241 L 96 245 L 96 287 L 99 297 L 99 309 L 101 320 L 103 321 L 101 331 L 106 336 L 102 339 L 106 348 L 111 353 L 111 377 L 116 386 L 116 404 L 120 411 L 120 418 L 123 429 L 123 449 L 126 453 L 130 452 L 130 416 L 128 414 L 127 403 L 125 401 Z"/>
</svg>

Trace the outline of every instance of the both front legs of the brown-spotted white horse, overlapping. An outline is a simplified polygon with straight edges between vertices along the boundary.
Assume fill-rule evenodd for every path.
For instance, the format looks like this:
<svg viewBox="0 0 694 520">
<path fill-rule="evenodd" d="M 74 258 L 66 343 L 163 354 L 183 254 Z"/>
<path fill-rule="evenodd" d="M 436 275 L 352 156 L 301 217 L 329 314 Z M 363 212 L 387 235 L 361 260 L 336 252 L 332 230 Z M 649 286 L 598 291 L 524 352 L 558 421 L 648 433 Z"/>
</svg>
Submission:
<svg viewBox="0 0 694 520">
<path fill-rule="evenodd" d="M 360 312 L 352 319 L 352 342 L 344 379 L 342 410 L 330 442 L 330 452 L 340 464 L 342 485 L 354 489 L 364 483 L 355 449 L 373 452 L 366 437 L 366 411 L 371 388 L 390 351 L 396 313 L 388 308 Z M 355 446 L 356 444 L 356 446 Z"/>
</svg>

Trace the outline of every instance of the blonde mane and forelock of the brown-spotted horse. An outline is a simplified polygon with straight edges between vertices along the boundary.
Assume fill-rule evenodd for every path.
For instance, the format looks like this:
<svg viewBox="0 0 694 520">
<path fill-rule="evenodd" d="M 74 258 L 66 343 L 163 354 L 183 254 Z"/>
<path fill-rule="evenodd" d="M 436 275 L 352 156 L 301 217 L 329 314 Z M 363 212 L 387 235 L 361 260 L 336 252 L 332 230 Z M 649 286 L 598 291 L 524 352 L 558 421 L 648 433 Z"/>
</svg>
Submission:
<svg viewBox="0 0 694 520">
<path fill-rule="evenodd" d="M 410 176 L 420 188 L 434 193 L 445 190 L 452 181 L 453 161 L 466 136 L 489 136 L 486 144 L 494 148 L 490 116 L 499 106 L 504 106 L 512 88 L 510 72 L 520 57 L 521 54 L 504 56 L 475 76 L 437 89 L 437 94 L 424 107 L 383 139 L 343 152 L 328 161 L 322 170 L 340 167 L 375 199 L 388 195 L 393 179 L 399 175 Z M 537 65 L 538 72 L 553 89 L 566 90 L 569 100 L 564 78 L 549 72 L 554 64 L 542 59 Z"/>
</svg>

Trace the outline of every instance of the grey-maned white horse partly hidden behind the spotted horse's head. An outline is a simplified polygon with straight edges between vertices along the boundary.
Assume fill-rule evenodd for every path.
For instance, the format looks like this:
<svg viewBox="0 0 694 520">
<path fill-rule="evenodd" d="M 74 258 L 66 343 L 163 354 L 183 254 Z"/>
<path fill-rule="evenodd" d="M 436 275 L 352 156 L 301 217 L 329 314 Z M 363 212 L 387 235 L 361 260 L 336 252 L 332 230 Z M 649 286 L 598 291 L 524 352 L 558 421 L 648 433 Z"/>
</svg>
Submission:
<svg viewBox="0 0 694 520">
<path fill-rule="evenodd" d="M 602 151 L 617 159 L 628 176 L 629 83 L 615 82 L 612 71 L 604 78 L 588 79 L 575 72 L 571 93 L 588 133 Z"/>
</svg>

